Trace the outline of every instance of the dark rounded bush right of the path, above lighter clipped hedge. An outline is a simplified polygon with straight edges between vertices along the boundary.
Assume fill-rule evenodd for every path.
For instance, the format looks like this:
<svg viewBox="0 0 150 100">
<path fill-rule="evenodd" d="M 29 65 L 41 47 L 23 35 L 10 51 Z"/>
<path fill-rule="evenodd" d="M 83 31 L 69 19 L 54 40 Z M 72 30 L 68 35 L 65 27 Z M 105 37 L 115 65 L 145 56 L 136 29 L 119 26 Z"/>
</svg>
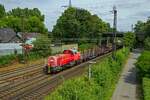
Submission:
<svg viewBox="0 0 150 100">
<path fill-rule="evenodd" d="M 150 77 L 150 51 L 144 51 L 141 54 L 136 66 L 141 77 Z"/>
</svg>

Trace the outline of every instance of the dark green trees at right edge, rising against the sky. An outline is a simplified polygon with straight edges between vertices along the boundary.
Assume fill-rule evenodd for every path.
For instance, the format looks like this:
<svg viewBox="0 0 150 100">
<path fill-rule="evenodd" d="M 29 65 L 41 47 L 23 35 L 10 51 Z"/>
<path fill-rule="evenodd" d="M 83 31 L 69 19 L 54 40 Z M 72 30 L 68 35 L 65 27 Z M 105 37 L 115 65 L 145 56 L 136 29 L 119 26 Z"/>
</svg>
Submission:
<svg viewBox="0 0 150 100">
<path fill-rule="evenodd" d="M 150 18 L 146 22 L 138 21 L 134 30 L 137 34 L 137 44 L 141 42 L 145 49 L 150 50 Z"/>
</svg>

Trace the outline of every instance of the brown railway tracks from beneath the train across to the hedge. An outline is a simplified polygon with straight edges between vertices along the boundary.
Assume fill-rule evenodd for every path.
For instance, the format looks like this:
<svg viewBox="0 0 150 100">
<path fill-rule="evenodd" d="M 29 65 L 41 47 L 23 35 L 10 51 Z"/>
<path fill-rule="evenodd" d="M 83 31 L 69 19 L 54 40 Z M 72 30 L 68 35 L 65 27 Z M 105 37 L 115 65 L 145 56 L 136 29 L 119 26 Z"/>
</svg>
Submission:
<svg viewBox="0 0 150 100">
<path fill-rule="evenodd" d="M 99 60 L 105 56 L 108 56 L 109 54 L 110 53 L 97 57 L 93 60 Z M 53 91 L 55 87 L 64 81 L 64 79 L 69 79 L 71 77 L 83 74 L 90 61 L 62 71 L 51 77 L 49 75 L 44 75 L 44 73 L 37 72 L 37 74 L 32 78 L 14 82 L 11 85 L 5 85 L 0 89 L 0 98 L 2 98 L 2 100 L 43 99 L 43 97 L 47 95 L 49 91 Z"/>
</svg>

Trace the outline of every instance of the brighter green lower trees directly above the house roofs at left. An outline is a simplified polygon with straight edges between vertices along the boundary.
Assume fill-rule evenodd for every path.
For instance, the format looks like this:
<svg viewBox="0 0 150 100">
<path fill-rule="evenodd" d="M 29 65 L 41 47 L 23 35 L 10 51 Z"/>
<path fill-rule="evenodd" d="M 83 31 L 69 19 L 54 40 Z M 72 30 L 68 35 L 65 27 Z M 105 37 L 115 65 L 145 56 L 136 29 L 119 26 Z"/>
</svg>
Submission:
<svg viewBox="0 0 150 100">
<path fill-rule="evenodd" d="M 0 20 L 0 28 L 12 28 L 15 32 L 21 32 L 22 23 L 24 23 L 24 32 L 39 32 L 39 33 L 47 33 L 48 30 L 44 25 L 44 22 L 40 21 L 40 19 L 36 16 L 31 16 L 29 18 L 24 18 L 22 22 L 22 18 L 15 16 L 7 16 Z"/>
</svg>

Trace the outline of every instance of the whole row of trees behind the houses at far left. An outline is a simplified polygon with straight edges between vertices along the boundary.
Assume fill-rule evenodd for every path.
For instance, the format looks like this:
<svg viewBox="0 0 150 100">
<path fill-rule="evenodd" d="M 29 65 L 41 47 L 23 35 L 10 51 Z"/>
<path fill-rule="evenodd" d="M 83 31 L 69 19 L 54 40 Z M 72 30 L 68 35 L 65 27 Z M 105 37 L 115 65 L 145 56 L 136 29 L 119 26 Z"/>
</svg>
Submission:
<svg viewBox="0 0 150 100">
<path fill-rule="evenodd" d="M 44 15 L 38 8 L 14 8 L 8 12 L 0 4 L 0 28 L 12 28 L 15 32 L 47 33 L 44 25 Z"/>
</svg>

